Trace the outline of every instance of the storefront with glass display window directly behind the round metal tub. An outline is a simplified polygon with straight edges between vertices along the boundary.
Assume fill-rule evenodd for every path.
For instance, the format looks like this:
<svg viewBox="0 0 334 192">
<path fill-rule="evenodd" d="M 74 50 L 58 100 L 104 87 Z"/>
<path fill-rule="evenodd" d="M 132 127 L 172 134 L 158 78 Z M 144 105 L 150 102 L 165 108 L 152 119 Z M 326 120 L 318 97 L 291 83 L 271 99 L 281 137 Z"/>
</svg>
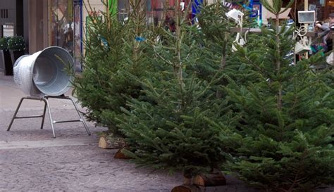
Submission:
<svg viewBox="0 0 334 192">
<path fill-rule="evenodd" d="M 82 57 L 82 1 L 29 0 L 27 8 L 27 38 L 29 53 L 48 46 L 61 46 L 75 58 L 81 69 Z"/>
</svg>

